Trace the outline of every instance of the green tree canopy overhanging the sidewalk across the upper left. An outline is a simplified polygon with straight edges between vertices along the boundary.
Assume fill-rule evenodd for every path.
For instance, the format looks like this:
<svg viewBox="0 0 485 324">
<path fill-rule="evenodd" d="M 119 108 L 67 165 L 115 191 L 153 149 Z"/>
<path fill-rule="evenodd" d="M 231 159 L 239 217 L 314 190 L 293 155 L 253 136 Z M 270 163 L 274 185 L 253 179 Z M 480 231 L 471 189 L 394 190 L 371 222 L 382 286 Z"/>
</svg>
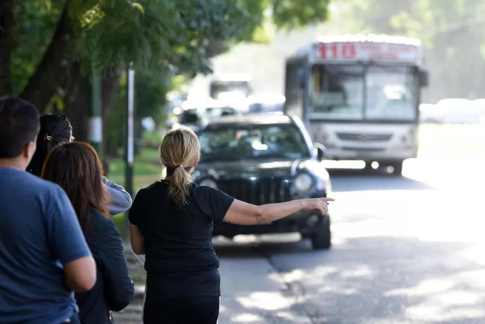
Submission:
<svg viewBox="0 0 485 324">
<path fill-rule="evenodd" d="M 30 93 L 41 111 L 49 110 L 51 104 L 62 109 L 65 96 L 71 103 L 72 96 L 79 96 L 78 65 L 88 75 L 93 67 L 103 74 L 124 69 L 131 62 L 137 71 L 138 117 L 149 115 L 160 121 L 165 93 L 177 76 L 210 72 L 209 59 L 237 42 L 267 42 L 275 28 L 321 22 L 326 19 L 328 1 L 15 1 L 15 44 L 8 49 L 14 93 L 27 98 Z M 58 46 L 66 40 L 66 47 Z M 119 127 L 126 95 L 123 80 L 113 109 L 106 112 L 107 141 L 115 146 L 121 144 L 123 132 Z"/>
</svg>

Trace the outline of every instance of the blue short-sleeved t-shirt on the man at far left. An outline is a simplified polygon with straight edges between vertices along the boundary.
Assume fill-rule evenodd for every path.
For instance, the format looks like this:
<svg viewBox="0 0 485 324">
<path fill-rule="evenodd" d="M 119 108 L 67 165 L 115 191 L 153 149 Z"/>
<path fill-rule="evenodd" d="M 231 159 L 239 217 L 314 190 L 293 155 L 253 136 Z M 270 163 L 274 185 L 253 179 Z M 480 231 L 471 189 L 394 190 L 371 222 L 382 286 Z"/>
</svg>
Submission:
<svg viewBox="0 0 485 324">
<path fill-rule="evenodd" d="M 91 253 L 65 192 L 0 167 L 0 323 L 62 323 L 77 312 L 62 264 Z"/>
</svg>

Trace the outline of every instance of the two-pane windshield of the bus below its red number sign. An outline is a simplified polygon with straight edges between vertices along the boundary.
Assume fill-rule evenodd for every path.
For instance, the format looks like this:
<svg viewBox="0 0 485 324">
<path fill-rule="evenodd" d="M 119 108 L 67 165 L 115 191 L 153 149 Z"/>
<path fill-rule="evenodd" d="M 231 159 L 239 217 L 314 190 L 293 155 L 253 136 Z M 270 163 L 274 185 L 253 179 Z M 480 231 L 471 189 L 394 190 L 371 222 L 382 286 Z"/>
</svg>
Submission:
<svg viewBox="0 0 485 324">
<path fill-rule="evenodd" d="M 415 121 L 415 82 L 413 67 L 315 65 L 308 83 L 310 116 Z"/>
</svg>

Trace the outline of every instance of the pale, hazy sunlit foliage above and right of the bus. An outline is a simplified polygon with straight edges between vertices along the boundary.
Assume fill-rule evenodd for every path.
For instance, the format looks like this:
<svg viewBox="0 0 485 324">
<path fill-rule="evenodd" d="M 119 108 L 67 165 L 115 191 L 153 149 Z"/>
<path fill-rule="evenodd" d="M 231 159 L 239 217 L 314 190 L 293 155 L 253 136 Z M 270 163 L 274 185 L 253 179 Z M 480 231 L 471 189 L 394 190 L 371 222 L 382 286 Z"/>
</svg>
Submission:
<svg viewBox="0 0 485 324">
<path fill-rule="evenodd" d="M 348 32 L 384 33 L 422 41 L 431 75 L 426 100 L 485 97 L 482 48 L 485 0 L 352 0 L 339 6 L 335 19 L 348 21 Z M 459 53 L 459 54 L 458 54 Z"/>
</svg>

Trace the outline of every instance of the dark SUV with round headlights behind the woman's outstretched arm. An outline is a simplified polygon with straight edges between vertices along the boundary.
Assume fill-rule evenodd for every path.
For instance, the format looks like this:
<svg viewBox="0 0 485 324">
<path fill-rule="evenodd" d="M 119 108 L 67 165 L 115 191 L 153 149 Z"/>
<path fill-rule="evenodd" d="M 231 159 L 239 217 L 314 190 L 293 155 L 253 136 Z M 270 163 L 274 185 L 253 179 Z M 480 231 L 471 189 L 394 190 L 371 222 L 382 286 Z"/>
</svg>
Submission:
<svg viewBox="0 0 485 324">
<path fill-rule="evenodd" d="M 331 182 L 321 161 L 325 148 L 312 143 L 297 117 L 226 116 L 198 131 L 200 160 L 192 181 L 217 188 L 235 199 L 262 205 L 294 199 L 326 197 Z M 300 211 L 251 226 L 214 223 L 213 236 L 299 232 L 313 248 L 331 245 L 330 216 Z"/>
</svg>

